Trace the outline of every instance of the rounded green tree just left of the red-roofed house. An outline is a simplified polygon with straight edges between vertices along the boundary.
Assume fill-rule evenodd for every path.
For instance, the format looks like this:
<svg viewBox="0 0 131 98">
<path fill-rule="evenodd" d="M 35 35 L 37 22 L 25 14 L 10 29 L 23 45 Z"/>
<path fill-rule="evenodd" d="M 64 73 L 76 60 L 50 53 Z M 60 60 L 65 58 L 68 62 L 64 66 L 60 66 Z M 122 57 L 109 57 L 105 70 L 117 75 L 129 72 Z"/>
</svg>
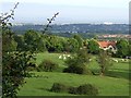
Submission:
<svg viewBox="0 0 131 98">
<path fill-rule="evenodd" d="M 91 39 L 87 44 L 87 50 L 90 53 L 97 54 L 99 52 L 99 45 L 95 39 Z"/>
</svg>

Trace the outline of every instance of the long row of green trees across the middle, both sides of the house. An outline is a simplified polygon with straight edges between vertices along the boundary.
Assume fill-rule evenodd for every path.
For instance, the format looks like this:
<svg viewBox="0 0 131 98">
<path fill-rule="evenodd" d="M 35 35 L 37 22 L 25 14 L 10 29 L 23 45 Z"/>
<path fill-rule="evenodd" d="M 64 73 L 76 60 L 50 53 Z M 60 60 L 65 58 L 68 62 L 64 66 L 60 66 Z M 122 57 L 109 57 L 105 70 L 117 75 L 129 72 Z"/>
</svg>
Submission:
<svg viewBox="0 0 131 98">
<path fill-rule="evenodd" d="M 35 51 L 35 52 L 76 52 L 81 48 L 86 48 L 88 53 L 98 54 L 102 50 L 98 39 L 83 39 L 80 35 L 71 38 L 55 35 L 41 34 L 29 29 L 24 35 L 15 35 L 10 41 L 10 50 Z M 116 44 L 117 52 L 108 50 L 112 57 L 126 58 L 131 56 L 131 40 L 118 39 Z"/>
</svg>

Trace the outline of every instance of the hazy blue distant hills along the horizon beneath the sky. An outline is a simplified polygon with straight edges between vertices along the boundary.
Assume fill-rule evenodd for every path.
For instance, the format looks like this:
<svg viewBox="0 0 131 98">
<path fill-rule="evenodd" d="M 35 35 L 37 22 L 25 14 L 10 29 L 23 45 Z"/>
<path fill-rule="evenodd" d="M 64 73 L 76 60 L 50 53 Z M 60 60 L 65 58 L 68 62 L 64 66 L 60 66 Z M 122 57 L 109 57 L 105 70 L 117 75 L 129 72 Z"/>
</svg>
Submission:
<svg viewBox="0 0 131 98">
<path fill-rule="evenodd" d="M 13 25 L 16 34 L 24 34 L 27 29 L 43 30 L 45 25 L 21 24 Z M 51 25 L 50 33 L 86 33 L 86 34 L 129 34 L 128 24 L 64 24 Z"/>
</svg>

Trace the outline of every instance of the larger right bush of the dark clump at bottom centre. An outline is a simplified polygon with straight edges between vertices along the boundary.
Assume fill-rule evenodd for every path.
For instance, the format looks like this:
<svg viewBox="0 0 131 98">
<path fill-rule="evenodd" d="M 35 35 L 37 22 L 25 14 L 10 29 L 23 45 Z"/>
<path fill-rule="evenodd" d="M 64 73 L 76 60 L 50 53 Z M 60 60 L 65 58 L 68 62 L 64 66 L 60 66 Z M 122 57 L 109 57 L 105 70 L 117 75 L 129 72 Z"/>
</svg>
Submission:
<svg viewBox="0 0 131 98">
<path fill-rule="evenodd" d="M 85 84 L 85 85 L 81 85 L 78 87 L 76 93 L 80 95 L 97 95 L 98 94 L 98 89 L 91 85 L 91 84 Z"/>
</svg>

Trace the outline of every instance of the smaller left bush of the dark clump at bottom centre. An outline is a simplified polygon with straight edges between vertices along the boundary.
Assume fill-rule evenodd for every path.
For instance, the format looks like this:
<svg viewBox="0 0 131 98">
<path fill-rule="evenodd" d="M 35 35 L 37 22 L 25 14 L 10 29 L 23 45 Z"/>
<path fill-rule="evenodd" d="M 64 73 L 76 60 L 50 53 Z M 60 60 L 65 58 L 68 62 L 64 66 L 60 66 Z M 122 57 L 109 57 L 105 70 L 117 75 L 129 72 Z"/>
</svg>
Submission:
<svg viewBox="0 0 131 98">
<path fill-rule="evenodd" d="M 63 84 L 60 84 L 60 83 L 53 83 L 52 87 L 51 87 L 51 91 L 55 91 L 55 93 L 64 93 L 64 91 L 68 91 L 68 86 L 63 85 Z"/>
</svg>

